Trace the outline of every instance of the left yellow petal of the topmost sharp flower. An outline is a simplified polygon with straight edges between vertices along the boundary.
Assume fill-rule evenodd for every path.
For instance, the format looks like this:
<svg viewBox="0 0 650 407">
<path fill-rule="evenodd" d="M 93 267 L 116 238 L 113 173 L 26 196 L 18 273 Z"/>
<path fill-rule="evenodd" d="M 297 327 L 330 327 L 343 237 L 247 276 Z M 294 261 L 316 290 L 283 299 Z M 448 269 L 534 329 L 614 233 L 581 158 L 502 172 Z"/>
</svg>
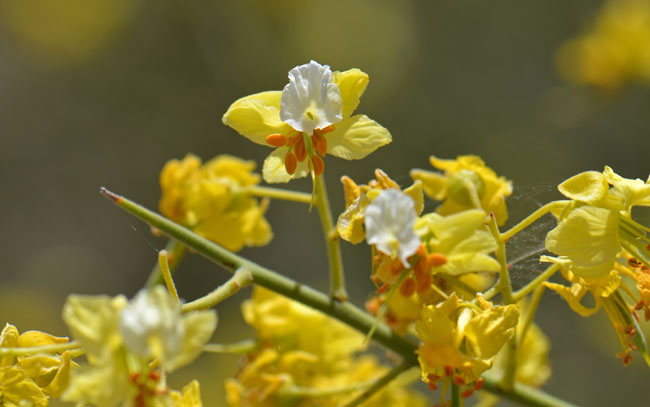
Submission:
<svg viewBox="0 0 650 407">
<path fill-rule="evenodd" d="M 280 91 L 268 91 L 243 97 L 230 105 L 221 120 L 247 139 L 268 146 L 266 136 L 291 130 L 280 120 L 281 96 Z"/>
</svg>

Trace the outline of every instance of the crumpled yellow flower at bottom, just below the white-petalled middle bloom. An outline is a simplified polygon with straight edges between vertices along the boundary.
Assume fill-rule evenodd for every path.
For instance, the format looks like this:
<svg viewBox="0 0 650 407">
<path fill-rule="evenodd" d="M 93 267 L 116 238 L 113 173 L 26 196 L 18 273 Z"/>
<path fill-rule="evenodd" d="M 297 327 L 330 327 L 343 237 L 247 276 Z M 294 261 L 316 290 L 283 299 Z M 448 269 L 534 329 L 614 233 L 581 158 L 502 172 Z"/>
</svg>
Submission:
<svg viewBox="0 0 650 407">
<path fill-rule="evenodd" d="M 493 306 L 480 296 L 477 299 L 478 307 L 453 294 L 444 302 L 422 308 L 416 322 L 422 341 L 418 359 L 422 378 L 431 386 L 449 379 L 471 390 L 515 333 L 517 305 Z"/>
</svg>

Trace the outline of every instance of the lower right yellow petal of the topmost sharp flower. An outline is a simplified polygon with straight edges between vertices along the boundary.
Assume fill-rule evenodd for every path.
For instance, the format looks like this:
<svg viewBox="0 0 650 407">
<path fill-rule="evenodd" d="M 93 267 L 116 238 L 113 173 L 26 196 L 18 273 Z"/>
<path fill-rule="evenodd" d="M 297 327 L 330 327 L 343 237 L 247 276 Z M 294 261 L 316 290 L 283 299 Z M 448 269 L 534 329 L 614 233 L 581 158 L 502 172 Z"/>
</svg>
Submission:
<svg viewBox="0 0 650 407">
<path fill-rule="evenodd" d="M 346 160 L 364 158 L 392 141 L 390 132 L 366 115 L 343 119 L 335 127 L 326 136 L 327 152 Z"/>
</svg>

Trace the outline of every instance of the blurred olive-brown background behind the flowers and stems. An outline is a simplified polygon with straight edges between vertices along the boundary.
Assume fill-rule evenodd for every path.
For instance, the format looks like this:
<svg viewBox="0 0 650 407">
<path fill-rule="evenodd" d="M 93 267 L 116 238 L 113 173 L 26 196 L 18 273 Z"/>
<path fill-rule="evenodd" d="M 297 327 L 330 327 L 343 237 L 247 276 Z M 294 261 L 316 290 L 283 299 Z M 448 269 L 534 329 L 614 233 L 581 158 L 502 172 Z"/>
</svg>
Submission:
<svg viewBox="0 0 650 407">
<path fill-rule="evenodd" d="M 393 134 L 392 144 L 363 161 L 328 157 L 335 216 L 344 206 L 342 175 L 366 183 L 379 167 L 407 186 L 409 170 L 430 169 L 432 154 L 478 154 L 511 179 L 511 222 L 560 198 L 556 185 L 581 171 L 610 165 L 645 180 L 650 51 L 632 68 L 629 58 L 606 56 L 643 54 L 650 36 L 628 33 L 620 49 L 608 43 L 614 51 L 594 57 L 585 36 L 607 7 L 587 0 L 0 0 L 0 323 L 65 336 L 60 310 L 68 294 L 133 296 L 165 241 L 102 199 L 99 187 L 157 208 L 169 159 L 228 153 L 261 167 L 270 150 L 238 136 L 221 116 L 237 98 L 282 89 L 287 71 L 310 59 L 367 72 L 358 111 Z M 635 23 L 644 21 L 650 27 L 650 14 Z M 311 190 L 308 181 L 288 187 Z M 274 201 L 268 219 L 273 242 L 242 254 L 326 290 L 316 212 Z M 542 236 L 514 242 L 511 256 L 543 248 Z M 361 305 L 373 289 L 369 250 L 343 250 L 349 293 Z M 522 264 L 517 286 L 543 267 Z M 189 256 L 177 285 L 193 299 L 228 276 Z M 249 294 L 219 306 L 216 342 L 252 334 L 239 310 Z M 578 317 L 547 292 L 538 322 L 552 342 L 546 390 L 583 406 L 648 405 L 650 370 L 640 357 L 622 366 L 602 313 Z M 206 355 L 173 375 L 172 385 L 198 375 L 205 405 L 224 405 L 222 383 L 236 368 L 236 357 Z"/>
</svg>

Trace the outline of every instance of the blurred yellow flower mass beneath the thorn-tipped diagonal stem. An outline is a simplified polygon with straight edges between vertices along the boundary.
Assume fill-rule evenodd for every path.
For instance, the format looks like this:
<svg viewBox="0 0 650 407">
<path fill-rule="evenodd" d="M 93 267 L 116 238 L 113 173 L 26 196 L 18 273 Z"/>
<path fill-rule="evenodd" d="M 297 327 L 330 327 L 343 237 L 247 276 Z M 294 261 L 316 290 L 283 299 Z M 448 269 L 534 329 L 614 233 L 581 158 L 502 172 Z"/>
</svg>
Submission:
<svg viewBox="0 0 650 407">
<path fill-rule="evenodd" d="M 344 405 L 388 372 L 373 356 L 355 355 L 360 333 L 302 304 L 256 287 L 242 308 L 261 348 L 226 382 L 229 407 Z M 362 406 L 425 406 L 405 388 L 412 380 L 401 376 Z"/>
</svg>

